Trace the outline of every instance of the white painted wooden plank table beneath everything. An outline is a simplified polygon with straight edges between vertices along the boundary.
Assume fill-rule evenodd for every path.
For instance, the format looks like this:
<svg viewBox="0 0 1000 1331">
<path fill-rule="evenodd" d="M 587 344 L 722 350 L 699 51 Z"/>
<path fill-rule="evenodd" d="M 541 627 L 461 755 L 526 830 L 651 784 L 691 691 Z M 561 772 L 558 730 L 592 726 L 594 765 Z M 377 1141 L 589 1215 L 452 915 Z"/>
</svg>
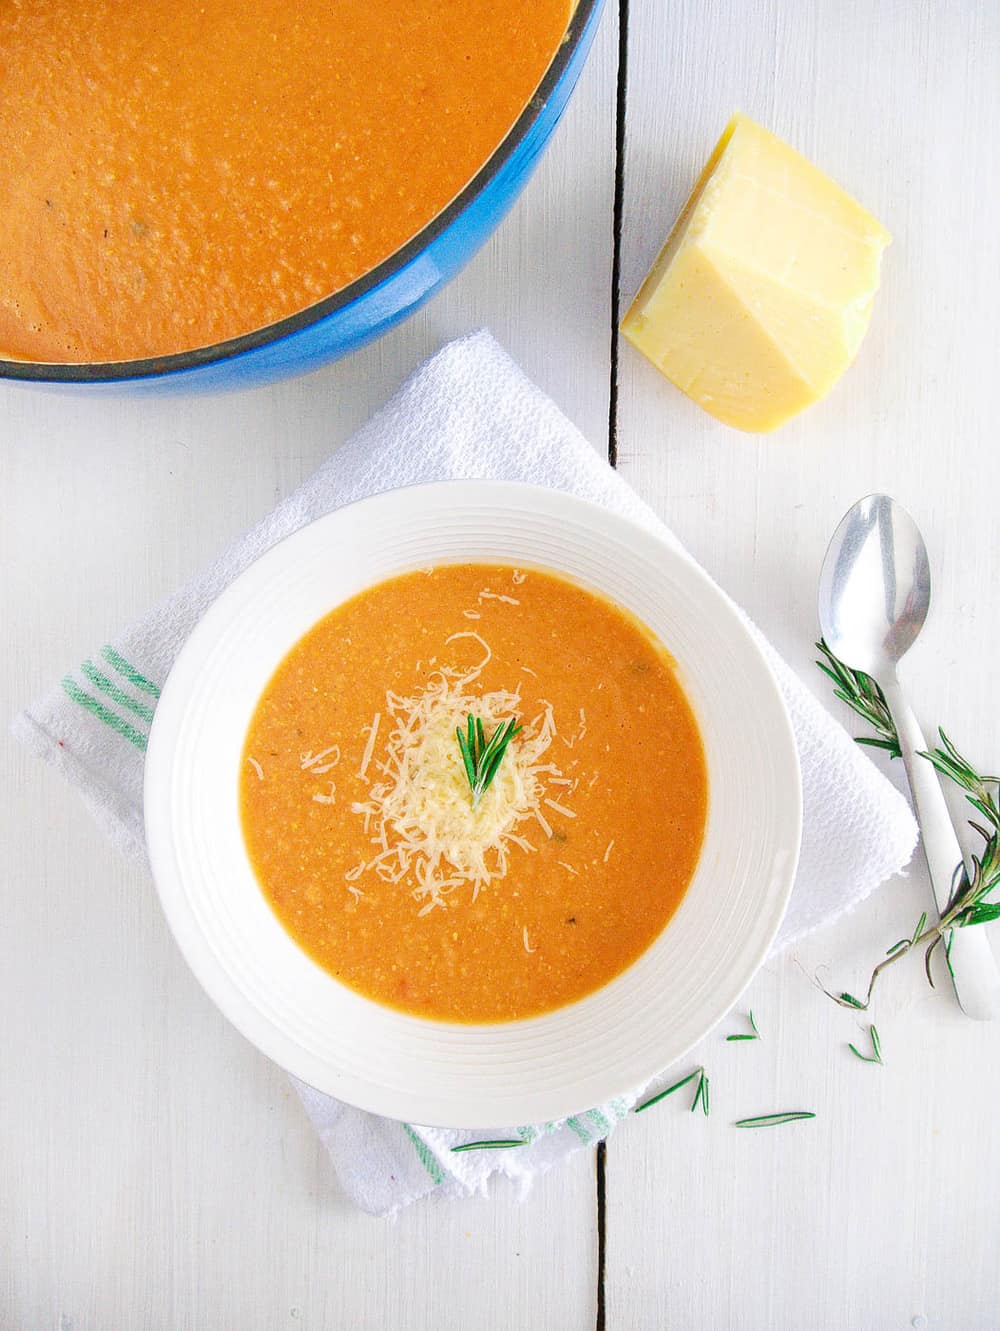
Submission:
<svg viewBox="0 0 1000 1331">
<path fill-rule="evenodd" d="M 449 337 L 489 325 L 795 667 L 826 539 L 885 488 L 936 604 L 917 711 L 996 768 L 1000 250 L 993 0 L 630 0 L 511 217 L 429 309 L 298 382 L 201 399 L 0 391 L 0 711 L 213 556 Z M 627 51 L 627 68 L 622 52 Z M 627 75 L 627 77 L 626 77 Z M 613 335 L 728 114 L 788 137 L 895 233 L 859 363 L 778 437 L 718 426 Z M 623 114 L 623 125 L 619 117 Z M 610 429 L 609 429 L 610 423 Z M 360 1215 L 285 1077 L 210 1006 L 144 874 L 0 737 L 3 1331 L 995 1331 L 999 1032 L 919 965 L 887 977 L 885 1066 L 818 993 L 863 982 L 923 870 L 768 965 L 758 1045 L 695 1051 L 666 1102 L 526 1202 Z M 997 940 L 995 940 L 997 941 Z M 814 1109 L 739 1133 L 734 1118 Z"/>
</svg>

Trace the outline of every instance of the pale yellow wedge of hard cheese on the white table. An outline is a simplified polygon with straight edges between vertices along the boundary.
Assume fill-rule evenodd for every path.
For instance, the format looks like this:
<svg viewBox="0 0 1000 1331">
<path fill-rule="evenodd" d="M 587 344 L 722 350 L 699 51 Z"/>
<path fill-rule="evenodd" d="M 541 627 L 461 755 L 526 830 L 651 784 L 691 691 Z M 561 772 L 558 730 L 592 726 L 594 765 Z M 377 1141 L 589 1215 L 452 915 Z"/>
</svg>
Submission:
<svg viewBox="0 0 1000 1331">
<path fill-rule="evenodd" d="M 734 116 L 622 331 L 719 421 L 774 430 L 855 358 L 889 240 L 822 170 Z"/>
</svg>

